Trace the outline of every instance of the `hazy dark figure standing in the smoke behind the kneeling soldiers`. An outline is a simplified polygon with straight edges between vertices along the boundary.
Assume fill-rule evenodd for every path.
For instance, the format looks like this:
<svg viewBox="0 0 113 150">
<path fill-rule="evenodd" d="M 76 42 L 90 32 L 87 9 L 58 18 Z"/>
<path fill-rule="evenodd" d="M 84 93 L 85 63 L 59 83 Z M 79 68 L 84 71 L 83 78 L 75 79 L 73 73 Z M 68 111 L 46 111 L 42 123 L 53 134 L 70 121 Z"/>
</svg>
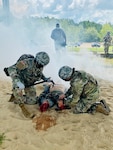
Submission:
<svg viewBox="0 0 113 150">
<path fill-rule="evenodd" d="M 66 34 L 60 28 L 59 23 L 56 24 L 56 28 L 52 31 L 51 38 L 54 40 L 56 52 L 59 52 L 59 51 L 65 49 Z"/>
</svg>

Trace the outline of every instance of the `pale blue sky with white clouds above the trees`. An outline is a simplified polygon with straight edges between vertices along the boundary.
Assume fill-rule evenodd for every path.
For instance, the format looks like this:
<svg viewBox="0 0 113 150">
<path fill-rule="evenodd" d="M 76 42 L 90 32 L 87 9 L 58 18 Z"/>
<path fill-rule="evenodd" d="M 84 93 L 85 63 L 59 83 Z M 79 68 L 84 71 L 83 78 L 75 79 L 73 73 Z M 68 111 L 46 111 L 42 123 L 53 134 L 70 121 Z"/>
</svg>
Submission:
<svg viewBox="0 0 113 150">
<path fill-rule="evenodd" d="M 75 22 L 84 20 L 113 23 L 112 0 L 9 0 L 13 15 L 22 17 L 69 18 Z M 0 0 L 2 5 L 2 0 Z"/>
</svg>

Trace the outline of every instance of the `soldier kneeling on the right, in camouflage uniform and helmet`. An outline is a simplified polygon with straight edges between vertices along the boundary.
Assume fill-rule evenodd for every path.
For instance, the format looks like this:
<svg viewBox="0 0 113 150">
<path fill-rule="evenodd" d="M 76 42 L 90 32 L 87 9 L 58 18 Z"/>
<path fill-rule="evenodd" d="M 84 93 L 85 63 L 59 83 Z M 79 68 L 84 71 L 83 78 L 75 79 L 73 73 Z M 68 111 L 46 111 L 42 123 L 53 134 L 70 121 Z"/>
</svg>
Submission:
<svg viewBox="0 0 113 150">
<path fill-rule="evenodd" d="M 59 70 L 59 77 L 65 81 L 70 81 L 70 88 L 65 96 L 66 98 L 72 96 L 71 105 L 75 107 L 73 113 L 94 112 L 98 106 L 101 107 L 101 110 L 107 107 L 104 100 L 98 102 L 99 86 L 97 80 L 89 73 L 63 66 Z M 104 114 L 108 115 L 109 110 Z"/>
</svg>

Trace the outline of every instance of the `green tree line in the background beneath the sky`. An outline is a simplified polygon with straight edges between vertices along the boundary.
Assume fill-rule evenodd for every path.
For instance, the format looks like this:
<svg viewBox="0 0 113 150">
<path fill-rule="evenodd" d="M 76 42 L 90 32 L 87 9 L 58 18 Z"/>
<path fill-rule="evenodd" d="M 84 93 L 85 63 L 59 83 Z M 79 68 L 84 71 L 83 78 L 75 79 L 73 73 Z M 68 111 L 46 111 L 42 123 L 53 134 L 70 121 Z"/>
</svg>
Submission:
<svg viewBox="0 0 113 150">
<path fill-rule="evenodd" d="M 113 35 L 113 25 L 110 23 L 100 24 L 91 21 L 82 21 L 75 23 L 72 19 L 55 19 L 55 18 L 39 18 L 30 17 L 27 21 L 37 24 L 38 27 L 41 25 L 44 29 L 55 27 L 55 24 L 60 23 L 61 28 L 67 35 L 67 40 L 70 43 L 74 42 L 103 42 L 103 37 L 110 31 Z"/>
</svg>

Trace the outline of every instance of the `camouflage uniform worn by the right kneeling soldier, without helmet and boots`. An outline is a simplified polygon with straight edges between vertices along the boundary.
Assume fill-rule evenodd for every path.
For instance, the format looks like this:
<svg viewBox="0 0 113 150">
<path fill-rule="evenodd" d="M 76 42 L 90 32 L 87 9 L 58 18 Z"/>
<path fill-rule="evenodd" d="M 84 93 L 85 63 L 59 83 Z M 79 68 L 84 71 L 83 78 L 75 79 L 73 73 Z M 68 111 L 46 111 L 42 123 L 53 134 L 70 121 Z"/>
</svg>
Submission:
<svg viewBox="0 0 113 150">
<path fill-rule="evenodd" d="M 99 98 L 97 81 L 84 71 L 75 71 L 70 80 L 70 88 L 66 97 L 72 95 L 71 105 L 75 107 L 75 113 L 84 113 Z"/>
</svg>

